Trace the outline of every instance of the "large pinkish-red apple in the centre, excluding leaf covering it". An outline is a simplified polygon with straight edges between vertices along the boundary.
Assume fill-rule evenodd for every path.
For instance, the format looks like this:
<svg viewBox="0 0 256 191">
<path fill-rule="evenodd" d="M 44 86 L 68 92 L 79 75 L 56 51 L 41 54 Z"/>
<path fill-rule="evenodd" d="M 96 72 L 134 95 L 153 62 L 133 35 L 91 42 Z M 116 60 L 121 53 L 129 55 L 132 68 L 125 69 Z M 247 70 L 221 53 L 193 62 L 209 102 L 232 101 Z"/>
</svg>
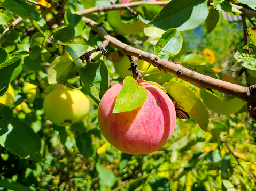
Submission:
<svg viewBox="0 0 256 191">
<path fill-rule="evenodd" d="M 104 137 L 118 150 L 146 154 L 158 150 L 173 134 L 176 112 L 173 102 L 155 85 L 139 82 L 148 92 L 143 105 L 135 110 L 112 113 L 123 83 L 114 85 L 102 97 L 98 123 Z"/>
</svg>

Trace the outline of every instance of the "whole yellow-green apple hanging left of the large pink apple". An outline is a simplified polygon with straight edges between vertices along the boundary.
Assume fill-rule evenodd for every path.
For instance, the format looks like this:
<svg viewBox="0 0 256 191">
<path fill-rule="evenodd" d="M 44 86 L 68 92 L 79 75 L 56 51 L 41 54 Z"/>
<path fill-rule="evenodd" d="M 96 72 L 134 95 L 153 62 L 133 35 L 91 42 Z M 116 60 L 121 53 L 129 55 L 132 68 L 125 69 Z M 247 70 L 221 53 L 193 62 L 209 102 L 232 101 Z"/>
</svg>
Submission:
<svg viewBox="0 0 256 191">
<path fill-rule="evenodd" d="M 80 90 L 56 89 L 44 99 L 46 117 L 58 126 L 70 126 L 82 120 L 90 110 L 86 95 Z"/>
</svg>

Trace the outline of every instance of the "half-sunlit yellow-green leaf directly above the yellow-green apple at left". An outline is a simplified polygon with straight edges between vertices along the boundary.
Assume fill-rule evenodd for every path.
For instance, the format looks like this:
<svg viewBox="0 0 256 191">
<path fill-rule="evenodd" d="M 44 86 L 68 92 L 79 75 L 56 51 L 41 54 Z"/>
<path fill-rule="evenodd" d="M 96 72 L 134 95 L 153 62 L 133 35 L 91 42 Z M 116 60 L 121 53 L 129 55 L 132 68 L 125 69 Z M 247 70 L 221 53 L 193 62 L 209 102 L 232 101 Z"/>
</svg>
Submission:
<svg viewBox="0 0 256 191">
<path fill-rule="evenodd" d="M 66 56 L 58 56 L 50 65 L 47 74 L 49 84 L 63 83 L 76 73 L 75 64 Z"/>
</svg>

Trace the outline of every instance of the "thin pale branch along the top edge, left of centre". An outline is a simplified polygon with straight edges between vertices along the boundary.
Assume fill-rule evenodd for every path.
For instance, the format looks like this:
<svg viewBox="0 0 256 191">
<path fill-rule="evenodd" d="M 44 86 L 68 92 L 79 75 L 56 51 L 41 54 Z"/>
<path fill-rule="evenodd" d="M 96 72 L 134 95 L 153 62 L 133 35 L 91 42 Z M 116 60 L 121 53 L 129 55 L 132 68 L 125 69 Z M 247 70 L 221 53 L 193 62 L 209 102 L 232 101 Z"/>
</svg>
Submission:
<svg viewBox="0 0 256 191">
<path fill-rule="evenodd" d="M 107 11 L 113 11 L 113 10 L 122 10 L 127 9 L 127 7 L 136 7 L 139 5 L 166 5 L 169 3 L 169 1 L 159 1 L 159 2 L 148 2 L 148 1 L 140 1 L 140 2 L 134 2 L 134 3 L 123 3 L 123 4 L 116 4 L 116 5 L 107 5 L 107 6 L 99 6 L 99 7 L 93 7 L 91 9 L 83 10 L 83 11 L 77 11 L 76 14 L 84 16 L 96 12 L 107 12 Z"/>
</svg>

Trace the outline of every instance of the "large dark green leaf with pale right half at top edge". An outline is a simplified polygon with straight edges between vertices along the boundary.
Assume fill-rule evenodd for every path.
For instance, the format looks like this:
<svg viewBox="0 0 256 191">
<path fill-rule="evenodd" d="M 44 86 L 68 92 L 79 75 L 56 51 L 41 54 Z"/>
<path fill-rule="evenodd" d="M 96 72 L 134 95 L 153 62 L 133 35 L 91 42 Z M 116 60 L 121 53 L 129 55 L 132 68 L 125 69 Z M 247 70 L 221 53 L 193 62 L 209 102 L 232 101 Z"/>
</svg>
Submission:
<svg viewBox="0 0 256 191">
<path fill-rule="evenodd" d="M 190 30 L 200 26 L 208 12 L 206 0 L 172 0 L 149 24 L 164 30 Z"/>
</svg>

